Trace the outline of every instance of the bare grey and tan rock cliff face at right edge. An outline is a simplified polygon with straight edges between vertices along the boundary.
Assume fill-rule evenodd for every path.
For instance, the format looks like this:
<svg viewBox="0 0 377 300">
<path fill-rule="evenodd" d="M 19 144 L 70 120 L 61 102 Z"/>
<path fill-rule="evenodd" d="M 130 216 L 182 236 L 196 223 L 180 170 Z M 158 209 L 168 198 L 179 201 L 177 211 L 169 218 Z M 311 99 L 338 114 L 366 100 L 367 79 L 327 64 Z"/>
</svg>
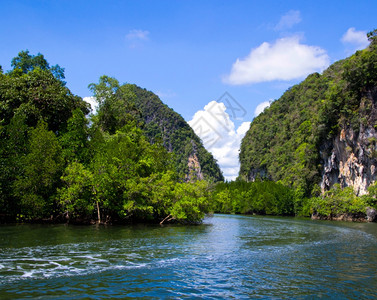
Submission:
<svg viewBox="0 0 377 300">
<path fill-rule="evenodd" d="M 369 113 L 360 119 L 358 132 L 345 126 L 335 138 L 320 149 L 323 164 L 321 189 L 335 183 L 352 186 L 357 195 L 365 195 L 377 179 L 377 88 L 366 93 L 361 106 L 369 105 Z"/>
</svg>

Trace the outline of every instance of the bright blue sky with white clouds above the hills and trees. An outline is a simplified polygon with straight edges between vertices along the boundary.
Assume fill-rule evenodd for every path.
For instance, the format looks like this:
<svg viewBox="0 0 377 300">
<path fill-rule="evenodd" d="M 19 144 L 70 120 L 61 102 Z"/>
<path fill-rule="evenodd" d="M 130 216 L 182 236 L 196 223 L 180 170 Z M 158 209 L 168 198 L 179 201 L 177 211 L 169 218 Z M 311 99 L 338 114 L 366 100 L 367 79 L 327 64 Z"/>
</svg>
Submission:
<svg viewBox="0 0 377 300">
<path fill-rule="evenodd" d="M 232 179 L 257 106 L 365 47 L 376 11 L 377 1 L 0 0 L 0 65 L 40 52 L 79 96 L 106 74 L 159 94 L 194 127 L 212 107 L 224 117 L 208 129 L 217 144 L 194 129 Z M 237 119 L 210 105 L 225 92 L 243 109 Z"/>
</svg>

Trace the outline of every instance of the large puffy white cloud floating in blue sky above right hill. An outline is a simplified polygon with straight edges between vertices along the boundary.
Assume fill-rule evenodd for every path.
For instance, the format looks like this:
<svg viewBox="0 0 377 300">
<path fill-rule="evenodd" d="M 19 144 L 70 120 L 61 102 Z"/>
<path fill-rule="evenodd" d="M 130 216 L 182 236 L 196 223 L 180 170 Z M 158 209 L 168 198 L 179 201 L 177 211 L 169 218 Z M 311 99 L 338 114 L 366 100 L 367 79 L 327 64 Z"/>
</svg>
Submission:
<svg viewBox="0 0 377 300">
<path fill-rule="evenodd" d="M 303 78 L 322 71 L 329 56 L 320 47 L 300 43 L 298 36 L 264 42 L 244 59 L 237 59 L 224 82 L 232 85 Z"/>
</svg>

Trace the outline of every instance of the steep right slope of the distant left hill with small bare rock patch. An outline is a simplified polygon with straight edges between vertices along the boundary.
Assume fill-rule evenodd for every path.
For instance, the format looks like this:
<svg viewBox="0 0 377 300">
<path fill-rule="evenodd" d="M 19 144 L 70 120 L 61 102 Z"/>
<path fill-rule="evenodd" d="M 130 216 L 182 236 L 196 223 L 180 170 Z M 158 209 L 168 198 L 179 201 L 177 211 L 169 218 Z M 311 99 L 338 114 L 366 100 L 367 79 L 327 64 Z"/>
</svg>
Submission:
<svg viewBox="0 0 377 300">
<path fill-rule="evenodd" d="M 154 93 L 136 85 L 130 86 L 145 122 L 146 135 L 152 143 L 161 139 L 165 148 L 176 154 L 178 170 L 187 178 L 223 181 L 216 160 L 182 116 L 162 103 Z"/>
</svg>

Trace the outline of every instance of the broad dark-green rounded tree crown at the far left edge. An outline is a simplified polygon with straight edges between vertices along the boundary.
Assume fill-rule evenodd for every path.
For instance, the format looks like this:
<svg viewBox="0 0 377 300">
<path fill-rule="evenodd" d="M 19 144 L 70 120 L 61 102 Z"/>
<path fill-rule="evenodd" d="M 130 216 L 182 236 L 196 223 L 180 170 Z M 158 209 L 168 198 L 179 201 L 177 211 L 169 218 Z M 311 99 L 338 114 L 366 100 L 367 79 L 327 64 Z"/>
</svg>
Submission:
<svg viewBox="0 0 377 300">
<path fill-rule="evenodd" d="M 16 60 L 14 66 L 13 71 L 0 74 L 0 124 L 9 124 L 19 113 L 28 126 L 35 127 L 43 119 L 50 130 L 60 134 L 73 110 L 89 112 L 88 104 L 73 95 L 51 69 L 30 67 L 23 59 Z"/>
</svg>

